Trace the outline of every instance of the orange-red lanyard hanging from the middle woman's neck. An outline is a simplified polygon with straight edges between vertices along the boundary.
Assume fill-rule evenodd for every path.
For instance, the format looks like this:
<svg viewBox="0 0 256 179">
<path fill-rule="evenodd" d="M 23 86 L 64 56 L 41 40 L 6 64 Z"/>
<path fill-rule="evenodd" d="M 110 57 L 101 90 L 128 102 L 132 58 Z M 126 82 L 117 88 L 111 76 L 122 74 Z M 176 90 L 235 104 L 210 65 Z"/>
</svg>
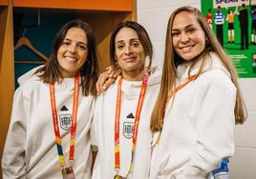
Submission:
<svg viewBox="0 0 256 179">
<path fill-rule="evenodd" d="M 142 86 L 139 92 L 139 101 L 138 101 L 138 106 L 136 110 L 134 133 L 133 133 L 132 157 L 131 157 L 128 174 L 132 172 L 132 169 L 134 166 L 134 155 L 135 155 L 138 130 L 139 130 L 140 112 L 143 106 L 143 100 L 144 100 L 146 89 L 147 89 L 148 77 L 149 77 L 149 73 L 146 72 L 146 74 L 143 76 Z M 122 77 L 120 77 L 118 81 L 118 86 L 117 86 L 117 107 L 116 107 L 116 119 L 115 119 L 115 170 L 117 171 L 118 169 L 120 169 L 119 123 L 120 123 L 120 106 L 121 106 L 121 84 L 122 84 Z"/>
</svg>

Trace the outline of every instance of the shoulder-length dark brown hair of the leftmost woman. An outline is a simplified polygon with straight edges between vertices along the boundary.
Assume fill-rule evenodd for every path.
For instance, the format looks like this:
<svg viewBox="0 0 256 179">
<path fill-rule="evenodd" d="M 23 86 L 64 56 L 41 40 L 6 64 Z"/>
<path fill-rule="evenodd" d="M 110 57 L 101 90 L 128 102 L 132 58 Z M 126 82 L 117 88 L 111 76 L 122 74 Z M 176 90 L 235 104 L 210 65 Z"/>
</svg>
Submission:
<svg viewBox="0 0 256 179">
<path fill-rule="evenodd" d="M 80 28 L 85 31 L 88 40 L 88 56 L 81 67 L 79 73 L 81 76 L 81 86 L 83 95 L 96 95 L 96 80 L 98 76 L 98 61 L 96 52 L 96 38 L 90 25 L 82 20 L 73 20 L 65 24 L 56 34 L 53 42 L 53 51 L 46 65 L 35 71 L 35 74 L 44 82 L 53 84 L 60 83 L 63 80 L 61 67 L 57 62 L 57 51 L 61 46 L 68 30 L 71 28 Z"/>
</svg>

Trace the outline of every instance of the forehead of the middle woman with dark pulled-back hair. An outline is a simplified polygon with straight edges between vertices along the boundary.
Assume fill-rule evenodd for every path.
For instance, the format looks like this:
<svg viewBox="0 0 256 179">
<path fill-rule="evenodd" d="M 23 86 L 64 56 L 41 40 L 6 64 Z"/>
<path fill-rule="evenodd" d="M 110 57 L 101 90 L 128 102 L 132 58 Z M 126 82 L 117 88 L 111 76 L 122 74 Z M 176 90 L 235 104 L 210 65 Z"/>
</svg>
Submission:
<svg viewBox="0 0 256 179">
<path fill-rule="evenodd" d="M 133 30 L 131 28 L 122 28 L 117 32 L 117 36 L 115 41 L 120 41 L 120 40 L 130 40 L 130 39 L 138 39 L 138 33 L 136 30 Z"/>
</svg>

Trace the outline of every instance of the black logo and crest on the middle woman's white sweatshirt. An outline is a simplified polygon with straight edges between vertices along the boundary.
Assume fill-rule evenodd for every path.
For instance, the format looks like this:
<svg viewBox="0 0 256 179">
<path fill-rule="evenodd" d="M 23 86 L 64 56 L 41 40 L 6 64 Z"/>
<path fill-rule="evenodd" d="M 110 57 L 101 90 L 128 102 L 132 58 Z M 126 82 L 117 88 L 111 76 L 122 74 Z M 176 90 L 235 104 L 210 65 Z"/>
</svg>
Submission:
<svg viewBox="0 0 256 179">
<path fill-rule="evenodd" d="M 125 122 L 123 122 L 122 134 L 127 139 L 131 139 L 134 135 L 134 119 L 134 114 L 130 113 L 126 116 Z"/>
</svg>

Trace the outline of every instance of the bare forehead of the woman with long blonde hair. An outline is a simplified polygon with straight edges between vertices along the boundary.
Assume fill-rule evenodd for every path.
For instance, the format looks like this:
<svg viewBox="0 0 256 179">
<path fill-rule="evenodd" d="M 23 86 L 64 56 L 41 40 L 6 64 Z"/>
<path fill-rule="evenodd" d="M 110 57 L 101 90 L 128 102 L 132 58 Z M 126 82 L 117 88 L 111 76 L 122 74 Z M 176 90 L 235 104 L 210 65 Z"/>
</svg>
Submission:
<svg viewBox="0 0 256 179">
<path fill-rule="evenodd" d="M 188 26 L 200 26 L 196 15 L 188 11 L 177 13 L 173 20 L 172 29 L 181 29 Z"/>
</svg>

